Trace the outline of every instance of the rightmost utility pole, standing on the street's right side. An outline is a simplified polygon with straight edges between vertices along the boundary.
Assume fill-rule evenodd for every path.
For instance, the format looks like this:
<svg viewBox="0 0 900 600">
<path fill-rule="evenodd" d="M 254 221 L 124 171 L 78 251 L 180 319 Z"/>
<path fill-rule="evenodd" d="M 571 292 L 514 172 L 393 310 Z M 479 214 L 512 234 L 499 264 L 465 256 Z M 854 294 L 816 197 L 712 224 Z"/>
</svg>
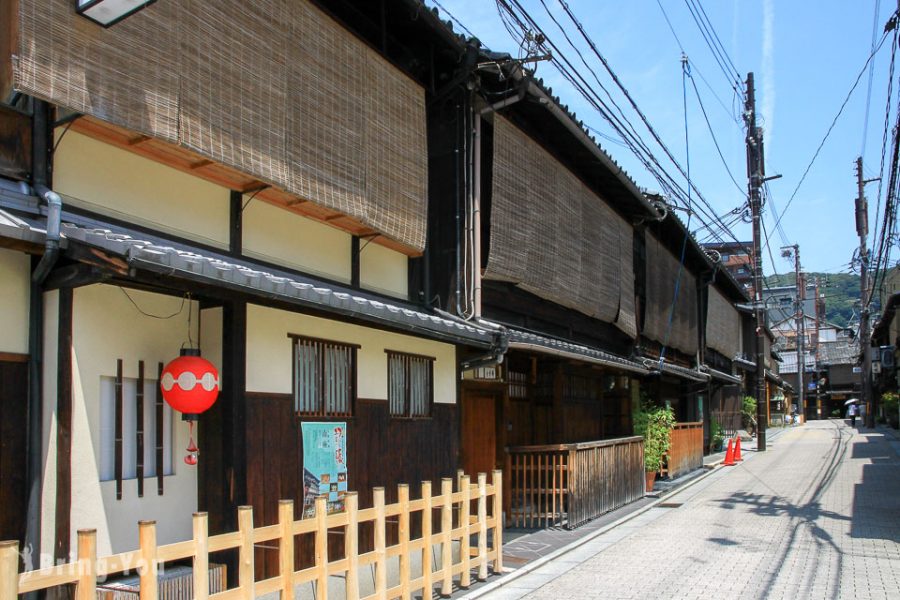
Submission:
<svg viewBox="0 0 900 600">
<path fill-rule="evenodd" d="M 860 373 L 860 403 L 866 407 L 866 427 L 875 427 L 876 402 L 872 394 L 872 344 L 869 340 L 869 250 L 866 236 L 869 234 L 869 203 L 866 200 L 867 183 L 877 181 L 863 179 L 862 157 L 856 159 L 856 233 L 859 234 L 859 347 L 863 355 Z"/>
</svg>

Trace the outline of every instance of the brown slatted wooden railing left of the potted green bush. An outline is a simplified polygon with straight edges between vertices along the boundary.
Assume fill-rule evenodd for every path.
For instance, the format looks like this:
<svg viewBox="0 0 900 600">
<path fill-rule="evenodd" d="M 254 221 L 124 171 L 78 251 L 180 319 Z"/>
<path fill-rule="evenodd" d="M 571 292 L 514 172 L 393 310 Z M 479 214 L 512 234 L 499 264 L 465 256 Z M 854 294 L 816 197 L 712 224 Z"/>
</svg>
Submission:
<svg viewBox="0 0 900 600">
<path fill-rule="evenodd" d="M 640 436 L 507 449 L 506 522 L 574 529 L 643 497 Z"/>
</svg>

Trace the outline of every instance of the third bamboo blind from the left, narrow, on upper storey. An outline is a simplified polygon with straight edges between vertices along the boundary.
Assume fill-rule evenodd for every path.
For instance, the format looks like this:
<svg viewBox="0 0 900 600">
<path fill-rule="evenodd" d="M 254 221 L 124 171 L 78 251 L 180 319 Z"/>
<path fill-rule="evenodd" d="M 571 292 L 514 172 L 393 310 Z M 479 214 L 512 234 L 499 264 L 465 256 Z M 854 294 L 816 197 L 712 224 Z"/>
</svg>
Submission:
<svg viewBox="0 0 900 600">
<path fill-rule="evenodd" d="M 693 355 L 698 348 L 697 279 L 686 267 L 682 269 L 679 258 L 653 235 L 648 233 L 646 239 L 647 309 L 643 333 L 660 344 Z"/>
</svg>

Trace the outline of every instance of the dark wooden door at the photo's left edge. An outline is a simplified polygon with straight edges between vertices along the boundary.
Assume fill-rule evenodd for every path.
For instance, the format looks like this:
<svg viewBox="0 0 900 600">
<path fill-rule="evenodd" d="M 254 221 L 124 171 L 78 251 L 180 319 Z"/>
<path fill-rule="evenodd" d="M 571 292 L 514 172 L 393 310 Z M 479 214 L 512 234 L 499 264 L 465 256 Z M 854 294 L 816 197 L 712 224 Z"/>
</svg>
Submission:
<svg viewBox="0 0 900 600">
<path fill-rule="evenodd" d="M 25 537 L 28 363 L 0 360 L 0 540 Z"/>
</svg>

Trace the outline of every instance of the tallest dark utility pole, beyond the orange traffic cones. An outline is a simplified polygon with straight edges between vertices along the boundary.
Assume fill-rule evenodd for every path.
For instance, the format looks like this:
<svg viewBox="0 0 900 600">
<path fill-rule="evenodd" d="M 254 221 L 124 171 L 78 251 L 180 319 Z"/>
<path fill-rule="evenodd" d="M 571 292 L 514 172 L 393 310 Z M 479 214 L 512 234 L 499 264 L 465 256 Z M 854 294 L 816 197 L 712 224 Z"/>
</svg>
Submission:
<svg viewBox="0 0 900 600">
<path fill-rule="evenodd" d="M 762 132 L 756 127 L 756 93 L 753 88 L 753 73 L 747 74 L 747 100 L 744 104 L 744 119 L 747 121 L 747 179 L 750 197 L 750 213 L 753 217 L 753 306 L 756 312 L 756 449 L 766 449 L 766 426 L 768 411 L 766 404 L 766 312 L 762 300 L 762 243 L 760 219 L 762 197 L 760 186 L 763 171 Z"/>
</svg>

